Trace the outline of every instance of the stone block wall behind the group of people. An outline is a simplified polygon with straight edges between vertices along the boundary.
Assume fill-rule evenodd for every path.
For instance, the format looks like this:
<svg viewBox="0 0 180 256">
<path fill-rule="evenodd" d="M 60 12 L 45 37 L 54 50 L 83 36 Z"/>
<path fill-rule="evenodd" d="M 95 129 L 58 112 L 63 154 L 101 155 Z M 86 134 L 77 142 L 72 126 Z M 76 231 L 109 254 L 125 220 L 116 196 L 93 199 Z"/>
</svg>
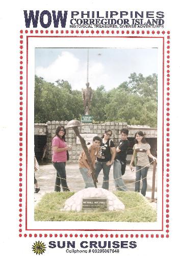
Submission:
<svg viewBox="0 0 180 256">
<path fill-rule="evenodd" d="M 43 135 L 47 136 L 47 153 L 46 159 L 48 162 L 52 161 L 52 139 L 55 136 L 56 129 L 59 125 L 63 125 L 65 128 L 67 126 L 68 121 L 48 121 L 45 123 L 36 123 L 35 124 L 35 135 Z M 157 129 L 150 128 L 147 126 L 140 125 L 127 125 L 126 122 L 106 122 L 102 124 L 92 124 L 88 123 L 81 127 L 79 127 L 80 133 L 88 133 L 88 134 L 97 134 L 97 136 L 101 137 L 104 134 L 105 130 L 111 129 L 113 134 L 111 139 L 114 141 L 115 146 L 117 146 L 118 140 L 120 139 L 120 130 L 122 128 L 127 128 L 129 130 L 129 138 L 132 138 L 134 141 L 134 135 L 137 131 L 143 131 L 146 134 L 146 138 L 153 138 L 151 143 L 151 153 L 155 154 L 157 151 Z M 87 132 L 87 130 L 89 130 Z M 69 152 L 69 161 L 68 163 L 77 163 L 79 155 L 82 151 L 81 144 L 76 144 L 76 136 L 72 129 L 66 130 L 66 142 L 72 146 L 72 151 Z M 129 156 L 131 159 L 131 155 Z M 128 157 L 127 157 L 128 159 Z"/>
</svg>

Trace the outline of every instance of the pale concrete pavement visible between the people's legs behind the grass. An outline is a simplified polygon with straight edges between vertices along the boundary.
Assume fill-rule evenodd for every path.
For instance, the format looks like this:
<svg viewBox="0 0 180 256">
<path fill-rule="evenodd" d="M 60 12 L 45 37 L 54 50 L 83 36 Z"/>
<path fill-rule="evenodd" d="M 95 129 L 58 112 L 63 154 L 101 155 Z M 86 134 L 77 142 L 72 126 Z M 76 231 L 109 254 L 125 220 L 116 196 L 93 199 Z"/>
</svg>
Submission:
<svg viewBox="0 0 180 256">
<path fill-rule="evenodd" d="M 35 173 L 38 185 L 40 187 L 39 193 L 35 193 L 35 204 L 39 202 L 41 197 L 45 193 L 50 193 L 54 191 L 55 187 L 55 178 L 56 178 L 56 170 L 53 166 L 53 164 L 46 164 L 46 165 L 40 165 L 40 170 Z M 82 175 L 79 171 L 78 164 L 67 164 L 66 165 L 66 176 L 67 176 L 67 184 L 70 189 L 70 191 L 79 191 L 85 187 Z M 135 189 L 135 172 L 131 172 L 129 165 L 126 165 L 126 171 L 123 176 L 123 180 L 125 185 L 130 191 L 134 191 Z M 156 175 L 157 177 L 157 175 Z M 103 173 L 102 170 L 98 176 L 98 183 L 97 187 L 102 186 L 102 178 Z M 141 185 L 142 186 L 142 181 Z M 147 173 L 147 192 L 146 192 L 146 198 L 151 201 L 151 187 L 152 187 L 152 165 L 149 167 L 148 173 Z M 110 182 L 109 182 L 109 190 L 114 191 L 114 180 L 113 180 L 113 166 L 111 166 L 110 170 Z M 156 187 L 155 187 L 155 199 L 157 199 L 157 178 L 156 178 Z M 153 207 L 157 207 L 156 202 L 151 203 Z"/>
</svg>

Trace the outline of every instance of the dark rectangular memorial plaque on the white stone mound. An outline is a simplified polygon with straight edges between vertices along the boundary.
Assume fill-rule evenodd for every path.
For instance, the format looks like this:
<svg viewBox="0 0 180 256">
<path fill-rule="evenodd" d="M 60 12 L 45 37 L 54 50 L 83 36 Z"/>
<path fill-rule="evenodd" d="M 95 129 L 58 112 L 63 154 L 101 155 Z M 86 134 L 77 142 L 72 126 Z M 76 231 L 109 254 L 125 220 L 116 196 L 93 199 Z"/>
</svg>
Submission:
<svg viewBox="0 0 180 256">
<path fill-rule="evenodd" d="M 107 198 L 83 198 L 82 209 L 108 209 Z"/>
</svg>

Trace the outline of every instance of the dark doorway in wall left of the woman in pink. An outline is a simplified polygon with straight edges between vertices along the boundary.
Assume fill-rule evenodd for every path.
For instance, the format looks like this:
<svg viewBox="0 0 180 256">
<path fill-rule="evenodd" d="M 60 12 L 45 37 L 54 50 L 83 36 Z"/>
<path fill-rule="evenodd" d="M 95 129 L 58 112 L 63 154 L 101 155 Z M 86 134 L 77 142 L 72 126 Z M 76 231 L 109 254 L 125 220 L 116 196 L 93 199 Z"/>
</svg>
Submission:
<svg viewBox="0 0 180 256">
<path fill-rule="evenodd" d="M 38 163 L 42 162 L 43 153 L 47 144 L 47 136 L 35 135 L 34 136 L 34 153 Z M 46 155 L 43 161 L 46 161 Z"/>
</svg>

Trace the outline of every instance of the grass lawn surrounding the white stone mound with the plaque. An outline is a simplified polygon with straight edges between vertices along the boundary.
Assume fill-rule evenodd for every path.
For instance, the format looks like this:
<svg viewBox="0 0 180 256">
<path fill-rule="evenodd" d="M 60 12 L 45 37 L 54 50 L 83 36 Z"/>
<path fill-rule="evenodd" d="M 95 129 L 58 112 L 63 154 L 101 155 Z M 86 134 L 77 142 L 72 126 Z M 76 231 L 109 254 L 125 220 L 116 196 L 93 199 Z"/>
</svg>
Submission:
<svg viewBox="0 0 180 256">
<path fill-rule="evenodd" d="M 74 193 L 48 193 L 35 206 L 35 221 L 127 221 L 156 222 L 157 212 L 146 198 L 136 192 L 116 191 L 114 194 L 125 205 L 124 210 L 100 212 L 61 211 L 66 199 Z"/>
</svg>

